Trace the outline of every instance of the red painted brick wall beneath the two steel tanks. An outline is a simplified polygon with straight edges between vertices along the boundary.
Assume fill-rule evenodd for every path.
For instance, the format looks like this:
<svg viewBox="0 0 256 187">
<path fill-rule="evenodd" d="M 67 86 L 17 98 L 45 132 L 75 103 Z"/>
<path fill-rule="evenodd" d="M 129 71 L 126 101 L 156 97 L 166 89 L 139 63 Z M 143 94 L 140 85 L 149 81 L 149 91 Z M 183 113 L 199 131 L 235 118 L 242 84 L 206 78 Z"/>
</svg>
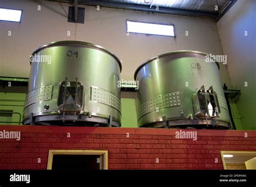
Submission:
<svg viewBox="0 0 256 187">
<path fill-rule="evenodd" d="M 21 131 L 21 140 L 0 139 L 0 169 L 46 169 L 49 149 L 108 150 L 109 169 L 223 169 L 220 150 L 256 150 L 256 131 L 196 130 L 193 141 L 176 139 L 176 129 L 1 125 L 3 130 Z"/>
</svg>

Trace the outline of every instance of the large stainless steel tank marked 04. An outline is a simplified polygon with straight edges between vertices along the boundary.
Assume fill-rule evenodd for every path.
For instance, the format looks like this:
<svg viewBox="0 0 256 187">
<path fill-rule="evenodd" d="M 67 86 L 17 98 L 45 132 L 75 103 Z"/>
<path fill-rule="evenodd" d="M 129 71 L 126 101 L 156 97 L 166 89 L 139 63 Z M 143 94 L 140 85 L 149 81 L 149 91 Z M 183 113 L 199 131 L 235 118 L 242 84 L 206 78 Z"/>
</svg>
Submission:
<svg viewBox="0 0 256 187">
<path fill-rule="evenodd" d="M 23 124 L 120 126 L 116 55 L 87 42 L 59 41 L 32 56 Z"/>
</svg>

